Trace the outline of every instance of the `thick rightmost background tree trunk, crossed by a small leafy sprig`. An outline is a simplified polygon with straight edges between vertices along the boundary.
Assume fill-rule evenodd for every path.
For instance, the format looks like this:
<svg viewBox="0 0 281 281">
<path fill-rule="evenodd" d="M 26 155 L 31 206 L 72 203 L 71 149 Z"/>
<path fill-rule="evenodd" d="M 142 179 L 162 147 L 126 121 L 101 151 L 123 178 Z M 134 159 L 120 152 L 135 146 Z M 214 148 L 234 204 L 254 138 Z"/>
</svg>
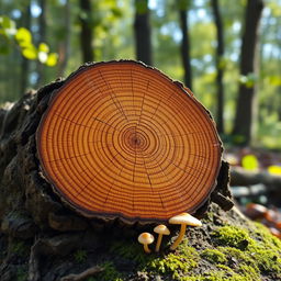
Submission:
<svg viewBox="0 0 281 281">
<path fill-rule="evenodd" d="M 257 74 L 258 30 L 263 9 L 262 0 L 248 0 L 245 16 L 245 30 L 241 42 L 240 75 Z M 233 134 L 243 136 L 241 144 L 249 145 L 255 121 L 256 85 L 247 87 L 240 83 Z"/>
</svg>

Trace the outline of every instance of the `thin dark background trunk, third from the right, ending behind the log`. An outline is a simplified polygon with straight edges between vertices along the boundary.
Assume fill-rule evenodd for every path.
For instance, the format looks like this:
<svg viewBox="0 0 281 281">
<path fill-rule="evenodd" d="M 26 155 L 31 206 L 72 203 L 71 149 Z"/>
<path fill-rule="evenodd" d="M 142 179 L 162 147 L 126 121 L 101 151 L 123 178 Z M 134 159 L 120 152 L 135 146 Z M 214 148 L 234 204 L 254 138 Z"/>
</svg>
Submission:
<svg viewBox="0 0 281 281">
<path fill-rule="evenodd" d="M 181 59 L 184 68 L 184 82 L 188 88 L 192 90 L 192 69 L 190 63 L 190 40 L 188 29 L 188 7 L 187 1 L 179 2 L 179 15 L 181 25 Z"/>
</svg>

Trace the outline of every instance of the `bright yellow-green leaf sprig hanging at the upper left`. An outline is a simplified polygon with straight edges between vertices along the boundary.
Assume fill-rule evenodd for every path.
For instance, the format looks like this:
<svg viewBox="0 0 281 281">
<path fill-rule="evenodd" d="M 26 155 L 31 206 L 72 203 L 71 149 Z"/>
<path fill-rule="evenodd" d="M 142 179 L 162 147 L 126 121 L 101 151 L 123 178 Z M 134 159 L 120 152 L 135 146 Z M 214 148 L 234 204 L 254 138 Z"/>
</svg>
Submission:
<svg viewBox="0 0 281 281">
<path fill-rule="evenodd" d="M 4 55 L 10 52 L 10 45 L 16 44 L 22 55 L 27 59 L 38 59 L 46 66 L 55 66 L 57 64 L 57 54 L 49 53 L 46 43 L 40 43 L 36 48 L 32 43 L 32 34 L 24 27 L 16 29 L 15 22 L 7 15 L 0 16 L 0 54 Z"/>
</svg>

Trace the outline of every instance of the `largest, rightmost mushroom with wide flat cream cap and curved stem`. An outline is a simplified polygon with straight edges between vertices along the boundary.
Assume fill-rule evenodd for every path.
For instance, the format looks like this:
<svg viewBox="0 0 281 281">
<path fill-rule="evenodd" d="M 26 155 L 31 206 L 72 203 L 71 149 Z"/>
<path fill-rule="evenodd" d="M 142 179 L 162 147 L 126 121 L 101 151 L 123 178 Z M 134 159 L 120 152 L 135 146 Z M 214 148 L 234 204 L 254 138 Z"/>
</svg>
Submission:
<svg viewBox="0 0 281 281">
<path fill-rule="evenodd" d="M 187 229 L 187 225 L 191 225 L 191 226 L 201 226 L 202 225 L 202 223 L 198 218 L 195 218 L 194 216 L 192 216 L 189 213 L 182 213 L 182 214 L 176 215 L 169 220 L 169 223 L 181 225 L 179 236 L 170 247 L 171 250 L 175 250 L 178 247 L 178 245 L 181 243 L 183 235 L 186 233 L 186 229 Z"/>
</svg>

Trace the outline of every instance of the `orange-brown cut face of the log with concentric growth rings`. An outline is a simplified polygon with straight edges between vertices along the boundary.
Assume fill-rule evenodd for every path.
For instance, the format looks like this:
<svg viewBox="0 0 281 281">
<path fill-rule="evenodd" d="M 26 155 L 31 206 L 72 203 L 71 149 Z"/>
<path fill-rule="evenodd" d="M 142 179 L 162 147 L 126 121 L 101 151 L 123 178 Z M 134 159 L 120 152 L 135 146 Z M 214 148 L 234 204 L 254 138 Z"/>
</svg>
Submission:
<svg viewBox="0 0 281 281">
<path fill-rule="evenodd" d="M 37 132 L 43 172 L 88 216 L 166 221 L 212 191 L 221 143 L 205 109 L 139 63 L 94 64 L 53 97 Z"/>
</svg>

